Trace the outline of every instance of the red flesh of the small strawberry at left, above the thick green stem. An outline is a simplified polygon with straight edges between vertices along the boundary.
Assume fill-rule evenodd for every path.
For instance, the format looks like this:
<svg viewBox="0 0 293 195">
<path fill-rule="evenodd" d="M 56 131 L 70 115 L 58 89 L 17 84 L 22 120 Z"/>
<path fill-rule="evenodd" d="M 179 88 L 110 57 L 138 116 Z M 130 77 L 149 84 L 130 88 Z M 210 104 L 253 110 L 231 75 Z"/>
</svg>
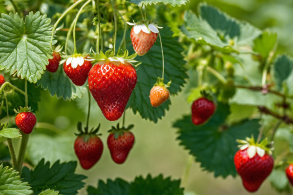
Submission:
<svg viewBox="0 0 293 195">
<path fill-rule="evenodd" d="M 30 134 L 33 131 L 34 126 L 36 125 L 37 118 L 31 112 L 19 113 L 15 117 L 15 123 L 18 128 L 25 134 Z"/>
</svg>

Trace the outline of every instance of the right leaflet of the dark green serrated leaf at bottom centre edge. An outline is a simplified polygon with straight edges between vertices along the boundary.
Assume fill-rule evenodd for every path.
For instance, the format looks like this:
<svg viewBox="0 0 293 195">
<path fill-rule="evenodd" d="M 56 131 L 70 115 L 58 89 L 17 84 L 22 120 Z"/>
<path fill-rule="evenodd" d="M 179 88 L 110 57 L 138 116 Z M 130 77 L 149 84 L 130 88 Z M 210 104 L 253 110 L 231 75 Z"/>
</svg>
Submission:
<svg viewBox="0 0 293 195">
<path fill-rule="evenodd" d="M 130 195 L 183 195 L 183 188 L 180 188 L 180 180 L 171 180 L 170 177 L 163 178 L 163 175 L 152 178 L 150 175 L 144 179 L 136 177 L 130 186 Z"/>
</svg>

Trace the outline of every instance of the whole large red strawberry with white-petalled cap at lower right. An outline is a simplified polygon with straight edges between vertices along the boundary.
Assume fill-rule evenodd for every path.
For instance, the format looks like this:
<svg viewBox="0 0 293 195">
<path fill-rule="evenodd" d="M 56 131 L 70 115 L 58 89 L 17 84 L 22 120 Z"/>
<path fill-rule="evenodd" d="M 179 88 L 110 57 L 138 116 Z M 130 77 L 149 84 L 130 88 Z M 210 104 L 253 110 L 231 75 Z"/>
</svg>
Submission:
<svg viewBox="0 0 293 195">
<path fill-rule="evenodd" d="M 255 144 L 254 139 L 250 143 L 244 140 L 240 140 L 239 142 L 244 145 L 241 146 L 240 150 L 234 156 L 235 168 L 241 176 L 246 190 L 255 192 L 271 174 L 273 169 L 271 152 L 265 148 L 268 142 L 264 140 L 260 144 Z"/>
</svg>

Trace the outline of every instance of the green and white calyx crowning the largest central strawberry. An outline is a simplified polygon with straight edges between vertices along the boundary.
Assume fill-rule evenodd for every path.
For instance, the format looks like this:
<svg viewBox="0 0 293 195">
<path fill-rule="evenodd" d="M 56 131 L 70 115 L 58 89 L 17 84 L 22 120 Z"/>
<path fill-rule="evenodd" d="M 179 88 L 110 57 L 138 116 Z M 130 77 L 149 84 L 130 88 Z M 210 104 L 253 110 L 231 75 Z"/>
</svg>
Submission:
<svg viewBox="0 0 293 195">
<path fill-rule="evenodd" d="M 93 51 L 93 49 L 90 50 L 90 58 L 89 61 L 92 61 L 93 64 L 96 64 L 98 62 L 107 62 L 110 61 L 114 64 L 119 65 L 120 63 L 125 64 L 125 62 L 128 62 L 129 64 L 133 66 L 138 66 L 142 62 L 134 60 L 135 57 L 137 57 L 137 54 L 134 53 L 130 56 L 128 56 L 129 52 L 128 50 L 118 49 L 117 55 L 114 56 L 114 52 L 112 50 L 108 50 L 105 52 L 105 54 L 100 51 L 100 54 L 97 54 Z"/>
</svg>

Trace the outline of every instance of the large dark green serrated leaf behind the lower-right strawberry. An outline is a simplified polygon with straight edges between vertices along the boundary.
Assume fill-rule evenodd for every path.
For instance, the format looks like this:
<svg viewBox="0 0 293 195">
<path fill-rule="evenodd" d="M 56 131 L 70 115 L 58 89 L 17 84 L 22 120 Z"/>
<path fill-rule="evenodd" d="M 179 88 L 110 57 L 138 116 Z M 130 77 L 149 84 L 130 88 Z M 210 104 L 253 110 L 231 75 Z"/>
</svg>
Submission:
<svg viewBox="0 0 293 195">
<path fill-rule="evenodd" d="M 225 120 L 229 114 L 229 106 L 218 103 L 216 113 L 202 126 L 195 126 L 191 116 L 185 116 L 173 125 L 180 129 L 180 145 L 196 157 L 195 160 L 201 163 L 204 170 L 214 172 L 216 177 L 236 176 L 233 162 L 238 150 L 236 139 L 245 139 L 251 137 L 251 134 L 257 137 L 260 127 L 257 119 L 228 126 Z"/>
</svg>

